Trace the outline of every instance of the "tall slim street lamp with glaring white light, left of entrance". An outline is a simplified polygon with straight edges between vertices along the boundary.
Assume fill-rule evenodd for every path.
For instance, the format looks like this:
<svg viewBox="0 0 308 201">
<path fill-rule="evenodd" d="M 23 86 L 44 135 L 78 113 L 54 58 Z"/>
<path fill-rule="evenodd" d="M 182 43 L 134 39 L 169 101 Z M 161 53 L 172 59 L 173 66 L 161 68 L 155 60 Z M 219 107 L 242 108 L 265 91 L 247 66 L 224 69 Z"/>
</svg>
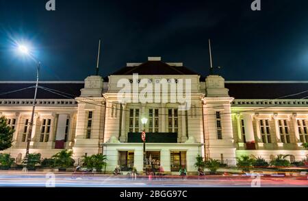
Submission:
<svg viewBox="0 0 308 201">
<path fill-rule="evenodd" d="M 29 49 L 25 45 L 19 45 L 18 50 L 22 54 L 30 56 Z M 38 78 L 39 78 L 39 75 L 40 75 L 40 62 L 37 62 L 37 65 L 36 65 L 36 87 L 35 87 L 35 92 L 34 92 L 31 120 L 30 120 L 30 123 L 29 123 L 29 130 L 28 130 L 28 134 L 27 134 L 27 147 L 26 147 L 26 154 L 25 154 L 25 158 L 24 158 L 24 167 L 23 167 L 24 172 L 27 172 L 27 164 L 28 164 L 29 149 L 30 149 L 30 142 L 31 142 L 31 133 L 32 133 L 32 127 L 33 127 L 33 124 L 34 124 L 34 112 L 35 112 L 35 109 L 36 109 L 36 94 L 38 93 Z"/>
</svg>

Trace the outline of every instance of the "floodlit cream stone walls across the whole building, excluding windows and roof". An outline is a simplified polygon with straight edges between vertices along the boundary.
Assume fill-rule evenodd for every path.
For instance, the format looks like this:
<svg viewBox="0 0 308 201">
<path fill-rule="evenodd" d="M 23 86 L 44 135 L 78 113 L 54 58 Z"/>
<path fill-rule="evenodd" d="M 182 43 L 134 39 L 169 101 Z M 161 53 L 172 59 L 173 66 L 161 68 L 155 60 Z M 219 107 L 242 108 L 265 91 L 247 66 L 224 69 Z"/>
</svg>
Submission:
<svg viewBox="0 0 308 201">
<path fill-rule="evenodd" d="M 159 108 L 159 132 L 168 132 L 168 108 L 177 108 L 177 103 L 123 103 L 123 114 L 120 114 L 118 102 L 117 82 L 123 78 L 132 78 L 132 75 L 110 75 L 109 83 L 103 83 L 99 76 L 90 76 L 85 80 L 85 88 L 81 90 L 81 97 L 77 97 L 78 105 L 40 105 L 36 108 L 34 128 L 32 133 L 30 152 L 41 153 L 43 157 L 50 157 L 60 150 L 55 150 L 54 139 L 57 125 L 57 115 L 67 114 L 70 117 L 70 132 L 66 149 L 72 149 L 75 157 L 84 154 L 107 155 L 107 171 L 114 170 L 118 163 L 118 151 L 134 151 L 135 166 L 142 170 L 142 143 L 127 143 L 129 132 L 129 108 L 139 108 L 140 118 L 148 115 L 149 108 Z M 170 171 L 170 151 L 186 151 L 188 172 L 196 171 L 194 163 L 196 156 L 201 154 L 207 158 L 234 160 L 240 155 L 255 155 L 270 158 L 270 155 L 292 154 L 296 159 L 305 158 L 307 150 L 301 147 L 298 139 L 297 119 L 308 119 L 308 107 L 303 104 L 290 104 L 275 107 L 259 106 L 252 100 L 242 100 L 242 104 L 229 97 L 228 89 L 224 88 L 224 79 L 219 75 L 209 75 L 205 82 L 199 82 L 198 75 L 140 75 L 139 79 L 190 79 L 192 81 L 192 108 L 188 110 L 188 137 L 186 137 L 185 112 L 179 110 L 178 119 L 178 143 L 149 143 L 146 150 L 159 151 L 161 153 L 162 166 L 166 172 Z M 140 91 L 142 88 L 140 88 Z M 170 95 L 170 94 L 169 94 Z M 250 102 L 250 104 L 246 104 Z M 287 102 L 287 101 L 286 101 Z M 292 101 L 292 102 L 297 102 Z M 105 108 L 106 103 L 106 108 Z M 115 108 L 114 108 L 115 107 Z M 113 112 L 112 112 L 113 110 Z M 93 112 L 91 138 L 86 139 L 87 112 Z M 216 126 L 216 112 L 221 113 L 222 139 L 218 139 Z M 114 115 L 112 115 L 112 113 Z M 116 115 L 115 115 L 116 114 Z M 202 117 L 204 114 L 204 118 Z M 26 143 L 22 142 L 25 119 L 30 119 L 31 105 L 0 106 L 0 115 L 16 119 L 16 132 L 14 133 L 14 145 L 8 150 L 13 157 L 25 154 Z M 122 123 L 120 123 L 120 118 Z M 246 117 L 246 118 L 244 118 Z M 248 118 L 249 117 L 249 118 Z M 49 142 L 40 142 L 40 126 L 42 119 L 51 119 L 51 133 Z M 245 119 L 246 138 L 255 141 L 257 150 L 245 150 L 239 127 L 240 119 Z M 261 142 L 259 120 L 269 119 L 271 127 L 272 143 Z M 279 141 L 277 132 L 277 119 L 287 119 L 290 128 L 292 143 L 283 144 Z M 140 120 L 140 119 L 139 119 Z M 204 121 L 203 121 L 204 120 Z M 203 128 L 204 123 L 204 128 Z M 148 130 L 149 126 L 146 126 Z M 121 131 L 120 131 L 121 130 Z M 139 123 L 139 132 L 142 131 L 142 123 Z M 249 132 L 249 133 L 248 133 Z M 189 143 L 185 143 L 188 140 Z M 114 143 L 120 141 L 121 143 Z"/>
</svg>

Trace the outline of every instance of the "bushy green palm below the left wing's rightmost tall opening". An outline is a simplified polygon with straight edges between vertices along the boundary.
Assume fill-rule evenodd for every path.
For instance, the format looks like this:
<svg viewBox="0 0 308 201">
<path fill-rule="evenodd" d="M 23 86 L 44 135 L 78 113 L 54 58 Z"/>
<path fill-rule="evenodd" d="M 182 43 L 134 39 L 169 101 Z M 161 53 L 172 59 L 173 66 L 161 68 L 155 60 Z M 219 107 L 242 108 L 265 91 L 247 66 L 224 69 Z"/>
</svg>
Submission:
<svg viewBox="0 0 308 201">
<path fill-rule="evenodd" d="M 57 154 L 53 155 L 51 158 L 54 160 L 54 166 L 59 169 L 59 172 L 66 172 L 66 168 L 73 167 L 75 161 L 72 158 L 73 151 L 62 150 Z"/>
</svg>

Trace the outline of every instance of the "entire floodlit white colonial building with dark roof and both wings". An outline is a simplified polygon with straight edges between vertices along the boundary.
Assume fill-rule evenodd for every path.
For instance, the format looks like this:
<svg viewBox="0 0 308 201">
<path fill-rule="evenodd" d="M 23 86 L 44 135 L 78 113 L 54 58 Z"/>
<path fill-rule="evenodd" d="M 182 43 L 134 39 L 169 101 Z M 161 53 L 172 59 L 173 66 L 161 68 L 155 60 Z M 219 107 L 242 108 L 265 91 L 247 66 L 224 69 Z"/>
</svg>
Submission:
<svg viewBox="0 0 308 201">
<path fill-rule="evenodd" d="M 136 73 L 138 80 L 133 80 Z M 119 101 L 121 79 L 131 84 L 142 79 L 149 84 L 167 80 L 175 86 L 178 80 L 190 80 L 190 107 L 182 110 L 181 103 L 168 100 Z M 4 152 L 17 158 L 25 156 L 32 85 L 0 82 L 0 115 L 16 130 L 14 145 Z M 68 149 L 76 158 L 103 153 L 107 171 L 116 165 L 142 171 L 141 132 L 145 131 L 147 164 L 161 165 L 166 172 L 178 172 L 182 166 L 188 172 L 196 171 L 198 154 L 222 161 L 240 155 L 270 159 L 277 154 L 290 154 L 290 160 L 305 159 L 307 90 L 308 82 L 227 82 L 220 75 L 203 78 L 182 63 L 162 62 L 161 58 L 128 63 L 107 78 L 92 75 L 84 82 L 40 82 L 30 152 L 51 157 Z M 140 93 L 132 91 L 129 96 Z M 146 124 L 142 124 L 143 117 L 148 119 Z"/>
</svg>

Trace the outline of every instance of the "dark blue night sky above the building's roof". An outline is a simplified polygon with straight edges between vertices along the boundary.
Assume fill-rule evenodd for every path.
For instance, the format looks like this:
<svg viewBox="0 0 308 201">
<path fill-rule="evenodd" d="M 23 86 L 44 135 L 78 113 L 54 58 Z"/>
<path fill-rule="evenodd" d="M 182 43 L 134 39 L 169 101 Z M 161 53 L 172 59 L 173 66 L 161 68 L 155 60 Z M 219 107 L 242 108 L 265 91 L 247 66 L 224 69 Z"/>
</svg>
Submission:
<svg viewBox="0 0 308 201">
<path fill-rule="evenodd" d="M 0 80 L 34 80 L 34 62 L 14 51 L 27 40 L 42 62 L 41 80 L 84 80 L 94 73 L 102 38 L 101 75 L 162 56 L 226 80 L 308 80 L 308 1 L 0 0 Z"/>
</svg>

